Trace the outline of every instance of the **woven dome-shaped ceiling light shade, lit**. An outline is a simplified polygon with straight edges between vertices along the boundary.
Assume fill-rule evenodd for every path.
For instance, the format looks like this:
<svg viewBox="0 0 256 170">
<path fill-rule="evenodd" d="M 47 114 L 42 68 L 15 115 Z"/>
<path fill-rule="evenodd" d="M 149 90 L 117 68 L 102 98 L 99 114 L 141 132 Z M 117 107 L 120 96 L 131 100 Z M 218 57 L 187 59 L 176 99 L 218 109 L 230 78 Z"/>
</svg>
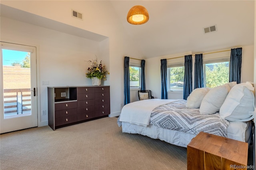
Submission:
<svg viewBox="0 0 256 170">
<path fill-rule="evenodd" d="M 136 5 L 132 7 L 127 14 L 127 21 L 130 24 L 140 25 L 148 22 L 148 11 L 144 6 Z"/>
</svg>

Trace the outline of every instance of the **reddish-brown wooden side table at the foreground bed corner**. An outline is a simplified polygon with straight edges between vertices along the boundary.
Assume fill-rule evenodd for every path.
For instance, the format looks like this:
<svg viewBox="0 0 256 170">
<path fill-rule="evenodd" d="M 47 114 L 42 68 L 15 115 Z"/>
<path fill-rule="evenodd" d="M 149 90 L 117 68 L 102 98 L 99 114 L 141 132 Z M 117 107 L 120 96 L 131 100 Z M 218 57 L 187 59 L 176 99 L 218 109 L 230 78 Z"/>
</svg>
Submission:
<svg viewBox="0 0 256 170">
<path fill-rule="evenodd" d="M 188 170 L 247 170 L 248 143 L 200 132 L 187 146 Z"/>
</svg>

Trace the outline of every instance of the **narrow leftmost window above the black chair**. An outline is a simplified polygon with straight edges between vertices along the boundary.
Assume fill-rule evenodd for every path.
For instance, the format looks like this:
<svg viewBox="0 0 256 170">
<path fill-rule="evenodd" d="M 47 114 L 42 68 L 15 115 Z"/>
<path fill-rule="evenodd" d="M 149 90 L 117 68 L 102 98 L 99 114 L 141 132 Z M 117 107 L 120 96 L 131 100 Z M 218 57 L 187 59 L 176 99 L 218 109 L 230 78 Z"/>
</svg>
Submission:
<svg viewBox="0 0 256 170">
<path fill-rule="evenodd" d="M 141 74 L 141 66 L 130 64 L 130 88 L 132 89 L 140 88 L 140 74 Z"/>
</svg>

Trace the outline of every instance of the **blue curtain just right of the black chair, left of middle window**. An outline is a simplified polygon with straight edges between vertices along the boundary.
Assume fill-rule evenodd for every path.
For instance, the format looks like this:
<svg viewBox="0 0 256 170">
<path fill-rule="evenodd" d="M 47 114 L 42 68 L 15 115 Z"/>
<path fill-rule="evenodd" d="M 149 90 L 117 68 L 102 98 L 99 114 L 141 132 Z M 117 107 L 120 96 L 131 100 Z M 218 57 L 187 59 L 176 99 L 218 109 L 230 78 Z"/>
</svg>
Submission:
<svg viewBox="0 0 256 170">
<path fill-rule="evenodd" d="M 166 59 L 161 59 L 161 99 L 168 99 Z"/>
</svg>

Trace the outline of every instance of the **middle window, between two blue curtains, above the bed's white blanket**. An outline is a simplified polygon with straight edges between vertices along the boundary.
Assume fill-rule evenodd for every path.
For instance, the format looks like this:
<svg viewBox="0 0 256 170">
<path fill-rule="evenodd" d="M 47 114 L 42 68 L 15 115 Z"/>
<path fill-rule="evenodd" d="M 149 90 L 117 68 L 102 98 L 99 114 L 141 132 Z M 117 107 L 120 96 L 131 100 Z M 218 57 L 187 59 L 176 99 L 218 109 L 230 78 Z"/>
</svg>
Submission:
<svg viewBox="0 0 256 170">
<path fill-rule="evenodd" d="M 167 76 L 169 91 L 183 91 L 184 63 L 168 65 Z"/>
</svg>

